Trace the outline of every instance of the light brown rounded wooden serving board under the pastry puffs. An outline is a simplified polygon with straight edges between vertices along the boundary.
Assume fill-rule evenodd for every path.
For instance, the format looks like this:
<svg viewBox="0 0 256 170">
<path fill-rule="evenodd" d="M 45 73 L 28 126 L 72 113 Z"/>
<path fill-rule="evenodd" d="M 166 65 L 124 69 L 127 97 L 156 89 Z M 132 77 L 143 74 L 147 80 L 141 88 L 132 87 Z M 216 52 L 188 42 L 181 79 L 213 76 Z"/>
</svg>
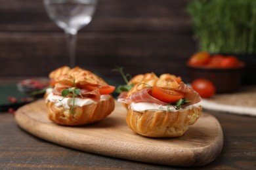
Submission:
<svg viewBox="0 0 256 170">
<path fill-rule="evenodd" d="M 16 111 L 16 123 L 33 135 L 69 148 L 161 165 L 200 166 L 215 160 L 223 148 L 223 131 L 210 114 L 202 116 L 182 137 L 149 138 L 134 133 L 125 122 L 127 110 L 116 102 L 110 116 L 95 124 L 59 126 L 47 118 L 45 101 Z"/>
</svg>

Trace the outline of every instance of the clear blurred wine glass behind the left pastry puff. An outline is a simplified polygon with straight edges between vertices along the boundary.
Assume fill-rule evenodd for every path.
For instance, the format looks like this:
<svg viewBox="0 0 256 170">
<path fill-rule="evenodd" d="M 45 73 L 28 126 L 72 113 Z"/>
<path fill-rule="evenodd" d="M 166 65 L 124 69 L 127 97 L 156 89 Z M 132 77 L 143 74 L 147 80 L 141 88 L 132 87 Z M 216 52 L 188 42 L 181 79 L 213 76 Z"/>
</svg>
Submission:
<svg viewBox="0 0 256 170">
<path fill-rule="evenodd" d="M 75 67 L 77 31 L 91 22 L 97 0 L 44 0 L 43 3 L 49 18 L 64 29 L 70 54 L 70 67 Z"/>
</svg>

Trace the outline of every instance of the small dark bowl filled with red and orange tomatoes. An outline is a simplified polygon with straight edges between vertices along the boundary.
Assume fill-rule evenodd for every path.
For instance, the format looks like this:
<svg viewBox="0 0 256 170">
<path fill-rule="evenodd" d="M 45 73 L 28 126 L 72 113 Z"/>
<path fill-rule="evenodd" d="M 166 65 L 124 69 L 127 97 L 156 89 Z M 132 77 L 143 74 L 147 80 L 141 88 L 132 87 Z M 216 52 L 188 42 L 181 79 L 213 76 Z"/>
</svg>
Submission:
<svg viewBox="0 0 256 170">
<path fill-rule="evenodd" d="M 205 78 L 211 81 L 216 93 L 236 92 L 241 86 L 244 62 L 236 56 L 197 52 L 187 62 L 190 82 Z"/>
</svg>

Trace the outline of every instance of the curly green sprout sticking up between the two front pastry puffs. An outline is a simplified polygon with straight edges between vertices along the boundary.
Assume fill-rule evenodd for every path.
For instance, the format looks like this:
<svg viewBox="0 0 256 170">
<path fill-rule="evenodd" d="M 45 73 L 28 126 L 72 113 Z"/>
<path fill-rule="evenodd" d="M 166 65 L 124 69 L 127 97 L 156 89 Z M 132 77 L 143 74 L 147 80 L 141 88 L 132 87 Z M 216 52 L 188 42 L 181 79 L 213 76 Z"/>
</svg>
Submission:
<svg viewBox="0 0 256 170">
<path fill-rule="evenodd" d="M 121 92 L 128 92 L 129 90 L 131 90 L 131 88 L 133 88 L 134 84 L 129 84 L 129 80 L 127 78 L 129 78 L 131 80 L 131 75 L 130 74 L 126 74 L 123 73 L 123 67 L 118 67 L 116 65 L 116 69 L 113 69 L 113 71 L 117 71 L 121 74 L 121 76 L 123 77 L 123 80 L 125 80 L 125 85 L 123 86 L 118 86 L 116 88 L 116 92 L 117 93 L 121 93 Z"/>
</svg>

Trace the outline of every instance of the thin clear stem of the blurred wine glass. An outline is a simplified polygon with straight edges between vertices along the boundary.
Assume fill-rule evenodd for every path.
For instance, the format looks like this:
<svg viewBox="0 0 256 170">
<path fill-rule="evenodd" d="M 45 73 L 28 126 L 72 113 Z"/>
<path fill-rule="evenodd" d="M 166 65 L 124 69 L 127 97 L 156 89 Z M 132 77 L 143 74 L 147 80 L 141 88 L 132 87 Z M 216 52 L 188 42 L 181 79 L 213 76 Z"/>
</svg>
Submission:
<svg viewBox="0 0 256 170">
<path fill-rule="evenodd" d="M 68 54 L 70 55 L 70 67 L 75 67 L 75 44 L 77 33 L 65 31 L 67 39 Z"/>
</svg>

